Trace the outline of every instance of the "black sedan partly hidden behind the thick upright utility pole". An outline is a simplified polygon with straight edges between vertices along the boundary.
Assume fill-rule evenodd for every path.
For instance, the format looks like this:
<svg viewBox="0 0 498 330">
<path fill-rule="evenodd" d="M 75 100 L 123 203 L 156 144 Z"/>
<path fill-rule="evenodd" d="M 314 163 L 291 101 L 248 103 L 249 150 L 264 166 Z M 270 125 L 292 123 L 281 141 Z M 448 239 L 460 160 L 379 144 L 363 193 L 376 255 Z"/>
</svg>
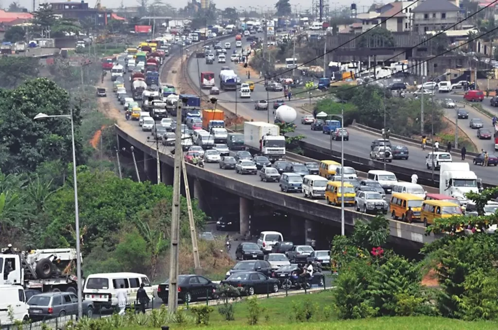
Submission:
<svg viewBox="0 0 498 330">
<path fill-rule="evenodd" d="M 184 303 L 190 303 L 197 299 L 215 299 L 216 283 L 200 275 L 178 275 L 178 300 Z M 169 280 L 159 284 L 157 287 L 157 296 L 168 303 Z"/>
</svg>

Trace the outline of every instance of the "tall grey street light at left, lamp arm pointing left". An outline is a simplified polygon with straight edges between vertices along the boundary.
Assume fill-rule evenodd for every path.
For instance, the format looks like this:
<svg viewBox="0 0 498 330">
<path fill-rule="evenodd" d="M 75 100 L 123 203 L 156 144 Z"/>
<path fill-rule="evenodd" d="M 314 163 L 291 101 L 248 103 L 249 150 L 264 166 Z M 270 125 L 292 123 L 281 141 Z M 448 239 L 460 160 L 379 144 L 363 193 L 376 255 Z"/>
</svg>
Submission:
<svg viewBox="0 0 498 330">
<path fill-rule="evenodd" d="M 74 185 L 74 214 L 75 214 L 75 232 L 76 232 L 76 277 L 77 277 L 77 288 L 78 288 L 78 318 L 83 316 L 83 297 L 82 297 L 82 283 L 81 283 L 81 246 L 80 246 L 80 213 L 78 208 L 78 180 L 76 178 L 76 147 L 74 142 L 74 122 L 73 122 L 73 110 L 71 109 L 71 114 L 58 114 L 58 115 L 48 115 L 46 113 L 38 113 L 34 116 L 34 120 L 45 119 L 45 118 L 69 118 L 71 120 L 71 142 L 73 144 L 73 185 Z"/>
</svg>

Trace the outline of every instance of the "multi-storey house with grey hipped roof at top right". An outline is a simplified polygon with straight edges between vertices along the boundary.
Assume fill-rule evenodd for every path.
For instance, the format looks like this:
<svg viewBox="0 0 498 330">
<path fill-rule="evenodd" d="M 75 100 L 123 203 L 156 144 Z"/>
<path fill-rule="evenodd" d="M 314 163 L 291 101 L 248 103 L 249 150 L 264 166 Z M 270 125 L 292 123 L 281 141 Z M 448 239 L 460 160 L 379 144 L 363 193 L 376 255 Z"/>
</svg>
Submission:
<svg viewBox="0 0 498 330">
<path fill-rule="evenodd" d="M 413 30 L 421 34 L 440 31 L 456 24 L 459 19 L 458 1 L 425 0 L 413 9 Z M 459 28 L 457 25 L 452 29 Z"/>
</svg>

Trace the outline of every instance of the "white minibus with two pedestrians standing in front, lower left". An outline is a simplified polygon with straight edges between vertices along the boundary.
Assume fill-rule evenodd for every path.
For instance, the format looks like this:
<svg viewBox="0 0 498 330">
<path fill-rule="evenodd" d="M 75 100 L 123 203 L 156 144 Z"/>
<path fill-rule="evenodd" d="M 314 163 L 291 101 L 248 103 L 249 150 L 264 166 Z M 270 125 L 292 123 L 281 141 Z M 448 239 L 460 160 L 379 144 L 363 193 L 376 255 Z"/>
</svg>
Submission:
<svg viewBox="0 0 498 330">
<path fill-rule="evenodd" d="M 138 273 L 101 273 L 88 275 L 83 287 L 83 298 L 94 303 L 96 308 L 116 308 L 116 290 L 123 284 L 129 304 L 136 300 L 136 291 L 144 285 L 147 296 L 152 301 L 154 291 L 147 275 Z M 98 307 L 97 307 L 98 306 Z"/>
</svg>

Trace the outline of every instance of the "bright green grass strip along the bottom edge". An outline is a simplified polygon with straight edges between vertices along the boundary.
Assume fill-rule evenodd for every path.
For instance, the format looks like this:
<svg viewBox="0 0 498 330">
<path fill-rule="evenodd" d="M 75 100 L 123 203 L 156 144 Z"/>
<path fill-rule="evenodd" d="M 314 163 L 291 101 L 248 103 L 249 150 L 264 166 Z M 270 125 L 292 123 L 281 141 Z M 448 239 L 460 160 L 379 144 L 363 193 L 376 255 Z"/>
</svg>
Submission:
<svg viewBox="0 0 498 330">
<path fill-rule="evenodd" d="M 271 321 L 271 320 L 270 320 Z M 305 324 L 268 324 L 264 320 L 260 325 L 235 324 L 226 322 L 223 326 L 210 322 L 208 327 L 181 327 L 171 326 L 171 330 L 203 329 L 203 330 L 496 330 L 496 322 L 465 322 L 453 319 L 436 317 L 383 317 L 376 319 L 308 322 Z M 234 327 L 236 326 L 236 327 Z M 153 328 L 130 327 L 122 330 L 153 330 Z"/>
</svg>

